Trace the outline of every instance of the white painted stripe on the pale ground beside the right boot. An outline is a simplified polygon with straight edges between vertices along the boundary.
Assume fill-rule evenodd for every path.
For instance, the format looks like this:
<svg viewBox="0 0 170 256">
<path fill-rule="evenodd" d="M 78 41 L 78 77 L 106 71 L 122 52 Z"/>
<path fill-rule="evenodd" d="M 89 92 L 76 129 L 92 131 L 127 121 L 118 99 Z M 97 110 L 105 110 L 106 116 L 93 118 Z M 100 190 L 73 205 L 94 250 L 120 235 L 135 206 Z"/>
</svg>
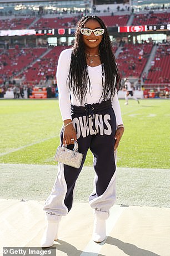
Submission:
<svg viewBox="0 0 170 256">
<path fill-rule="evenodd" d="M 107 230 L 107 236 L 111 233 L 114 225 L 116 225 L 117 220 L 119 219 L 119 216 L 121 216 L 123 212 L 123 207 L 119 205 L 114 205 L 112 209 L 110 210 L 110 216 L 108 220 L 106 221 L 106 230 Z M 84 248 L 83 253 L 80 256 L 87 256 L 91 255 L 91 253 L 96 253 L 97 256 L 100 250 L 102 249 L 102 245 L 105 243 L 106 239 L 102 241 L 102 243 L 95 243 L 93 240 L 89 241 L 87 244 L 87 247 Z"/>
</svg>

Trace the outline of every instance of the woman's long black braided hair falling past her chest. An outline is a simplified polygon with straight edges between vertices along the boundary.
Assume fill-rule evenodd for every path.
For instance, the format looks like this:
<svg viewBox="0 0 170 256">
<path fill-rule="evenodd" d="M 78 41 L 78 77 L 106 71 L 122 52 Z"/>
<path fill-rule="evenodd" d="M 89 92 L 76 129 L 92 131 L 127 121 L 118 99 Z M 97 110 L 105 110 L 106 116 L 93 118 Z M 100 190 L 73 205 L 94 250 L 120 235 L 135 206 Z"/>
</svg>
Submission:
<svg viewBox="0 0 170 256">
<path fill-rule="evenodd" d="M 86 96 L 87 89 L 91 87 L 91 81 L 88 76 L 86 55 L 84 52 L 84 43 L 82 40 L 81 28 L 88 20 L 96 20 L 102 28 L 104 34 L 102 36 L 101 44 L 99 45 L 100 59 L 102 63 L 102 86 L 103 92 L 101 99 L 113 99 L 116 91 L 121 87 L 121 78 L 119 76 L 118 67 L 112 51 L 112 44 L 109 38 L 107 28 L 101 18 L 97 16 L 83 17 L 79 22 L 76 30 L 76 38 L 73 45 L 71 56 L 71 65 L 68 75 L 69 89 L 73 90 L 74 95 L 82 103 Z"/>
</svg>

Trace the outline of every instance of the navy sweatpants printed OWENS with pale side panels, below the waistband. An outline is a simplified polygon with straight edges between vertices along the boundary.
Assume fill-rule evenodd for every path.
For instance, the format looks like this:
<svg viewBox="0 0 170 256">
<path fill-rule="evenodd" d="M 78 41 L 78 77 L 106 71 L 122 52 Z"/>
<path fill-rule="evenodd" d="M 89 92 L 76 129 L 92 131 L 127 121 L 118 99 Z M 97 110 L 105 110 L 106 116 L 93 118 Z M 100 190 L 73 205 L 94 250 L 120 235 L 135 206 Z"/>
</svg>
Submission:
<svg viewBox="0 0 170 256">
<path fill-rule="evenodd" d="M 63 163 L 58 164 L 58 174 L 47 198 L 44 210 L 47 218 L 63 216 L 71 210 L 76 180 L 82 170 L 88 149 L 93 153 L 94 188 L 89 196 L 89 204 L 98 211 L 108 211 L 116 201 L 116 160 L 114 152 L 114 135 L 116 117 L 112 107 L 99 110 L 91 117 L 84 113 L 73 113 L 72 120 L 77 132 L 78 152 L 84 154 L 79 169 Z M 94 131 L 96 130 L 96 131 Z M 61 131 L 61 144 L 63 128 Z M 74 145 L 67 148 L 73 149 Z M 49 216 L 50 215 L 50 216 Z"/>
</svg>

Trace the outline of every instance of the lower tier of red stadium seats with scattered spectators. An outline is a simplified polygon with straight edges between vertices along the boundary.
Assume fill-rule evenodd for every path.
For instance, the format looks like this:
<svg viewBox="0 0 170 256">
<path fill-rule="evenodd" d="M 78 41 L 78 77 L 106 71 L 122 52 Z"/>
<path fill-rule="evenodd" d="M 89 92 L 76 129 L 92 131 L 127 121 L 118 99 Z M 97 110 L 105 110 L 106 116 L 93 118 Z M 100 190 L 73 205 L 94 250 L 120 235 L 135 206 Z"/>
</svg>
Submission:
<svg viewBox="0 0 170 256">
<path fill-rule="evenodd" d="M 117 57 L 117 63 L 121 77 L 139 78 L 143 73 L 144 66 L 148 61 L 153 47 L 152 41 L 143 44 L 127 44 L 120 42 L 121 51 Z M 68 46 L 57 46 L 51 50 L 47 48 L 35 49 L 9 49 L 0 54 L 0 85 L 11 77 L 22 81 L 41 84 L 42 81 L 55 79 L 59 54 Z M 159 44 L 151 69 L 148 75 L 143 73 L 142 79 L 145 84 L 169 83 L 168 71 L 169 44 Z M 118 46 L 113 47 L 116 52 Z M 41 56 L 44 54 L 44 56 Z"/>
</svg>

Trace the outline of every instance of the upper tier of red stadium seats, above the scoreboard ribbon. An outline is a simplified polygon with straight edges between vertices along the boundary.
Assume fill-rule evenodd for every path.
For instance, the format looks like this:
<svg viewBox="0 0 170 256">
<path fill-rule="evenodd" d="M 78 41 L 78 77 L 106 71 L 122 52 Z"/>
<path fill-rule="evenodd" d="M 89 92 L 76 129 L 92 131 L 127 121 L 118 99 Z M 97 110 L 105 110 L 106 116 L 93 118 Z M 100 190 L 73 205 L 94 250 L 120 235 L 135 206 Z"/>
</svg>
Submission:
<svg viewBox="0 0 170 256">
<path fill-rule="evenodd" d="M 109 8 L 109 7 L 108 7 Z M 109 10 L 108 10 L 109 12 Z M 84 13 L 75 17 L 39 17 L 36 23 L 36 17 L 25 17 L 25 18 L 6 18 L 0 19 L 0 30 L 17 30 L 32 28 L 61 28 L 61 27 L 75 27 L 79 18 Z M 97 14 L 99 16 L 99 14 Z M 111 26 L 126 26 L 130 15 L 114 15 L 109 12 L 109 15 L 102 16 L 103 21 L 108 27 Z M 170 13 L 154 13 L 149 12 L 144 14 L 136 13 L 133 18 L 132 25 L 164 25 L 170 22 Z"/>
</svg>

